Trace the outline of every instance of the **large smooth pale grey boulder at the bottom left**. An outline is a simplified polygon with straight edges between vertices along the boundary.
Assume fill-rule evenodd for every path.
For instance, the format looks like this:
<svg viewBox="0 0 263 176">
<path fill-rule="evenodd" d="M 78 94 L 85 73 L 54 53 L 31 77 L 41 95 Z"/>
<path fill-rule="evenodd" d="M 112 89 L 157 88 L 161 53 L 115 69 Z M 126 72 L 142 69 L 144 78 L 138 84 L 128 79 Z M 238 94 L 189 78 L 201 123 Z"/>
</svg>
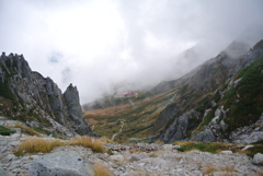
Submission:
<svg viewBox="0 0 263 176">
<path fill-rule="evenodd" d="M 93 168 L 75 151 L 60 151 L 39 156 L 30 165 L 30 176 L 94 176 Z"/>
</svg>

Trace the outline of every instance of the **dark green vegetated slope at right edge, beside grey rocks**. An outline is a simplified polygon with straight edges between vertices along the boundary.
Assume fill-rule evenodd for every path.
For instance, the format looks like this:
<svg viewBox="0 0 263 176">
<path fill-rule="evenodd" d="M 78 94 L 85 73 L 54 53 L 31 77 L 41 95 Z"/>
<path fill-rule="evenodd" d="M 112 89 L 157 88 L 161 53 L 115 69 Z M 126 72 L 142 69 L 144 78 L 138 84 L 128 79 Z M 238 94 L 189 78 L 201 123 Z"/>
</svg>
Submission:
<svg viewBox="0 0 263 176">
<path fill-rule="evenodd" d="M 236 74 L 241 79 L 231 87 L 220 102 L 220 106 L 229 109 L 226 122 L 229 130 L 255 122 L 263 112 L 263 57 Z"/>
</svg>

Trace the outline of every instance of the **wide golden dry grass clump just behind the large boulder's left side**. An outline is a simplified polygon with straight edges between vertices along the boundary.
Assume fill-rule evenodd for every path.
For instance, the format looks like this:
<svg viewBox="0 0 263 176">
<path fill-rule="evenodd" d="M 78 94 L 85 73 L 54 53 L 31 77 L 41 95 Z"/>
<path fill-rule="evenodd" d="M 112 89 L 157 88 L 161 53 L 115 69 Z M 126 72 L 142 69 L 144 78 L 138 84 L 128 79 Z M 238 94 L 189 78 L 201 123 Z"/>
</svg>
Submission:
<svg viewBox="0 0 263 176">
<path fill-rule="evenodd" d="M 19 145 L 19 148 L 15 151 L 15 154 L 23 155 L 25 153 L 37 153 L 37 152 L 46 153 L 46 152 L 50 152 L 53 148 L 61 146 L 61 145 L 65 145 L 65 143 L 62 143 L 59 140 L 48 141 L 42 138 L 31 137 L 24 140 L 21 143 L 21 145 Z"/>
</svg>

